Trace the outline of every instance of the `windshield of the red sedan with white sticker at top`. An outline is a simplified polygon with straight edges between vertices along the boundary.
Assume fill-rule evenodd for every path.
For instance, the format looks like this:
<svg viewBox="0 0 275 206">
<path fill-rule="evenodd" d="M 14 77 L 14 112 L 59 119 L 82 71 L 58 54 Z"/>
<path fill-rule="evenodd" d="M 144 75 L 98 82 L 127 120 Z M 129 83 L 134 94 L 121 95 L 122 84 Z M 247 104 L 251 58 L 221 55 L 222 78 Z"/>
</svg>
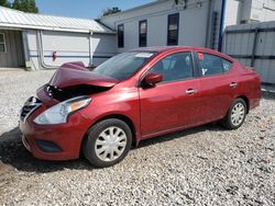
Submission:
<svg viewBox="0 0 275 206">
<path fill-rule="evenodd" d="M 125 80 L 139 71 L 153 56 L 154 53 L 122 53 L 99 65 L 91 72 Z"/>
</svg>

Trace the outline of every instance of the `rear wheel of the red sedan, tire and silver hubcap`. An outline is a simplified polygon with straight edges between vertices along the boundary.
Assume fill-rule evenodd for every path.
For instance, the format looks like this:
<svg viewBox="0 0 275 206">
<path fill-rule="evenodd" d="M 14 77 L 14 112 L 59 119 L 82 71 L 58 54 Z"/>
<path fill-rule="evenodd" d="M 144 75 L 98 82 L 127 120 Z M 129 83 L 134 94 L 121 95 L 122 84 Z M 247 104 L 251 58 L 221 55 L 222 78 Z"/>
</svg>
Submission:
<svg viewBox="0 0 275 206">
<path fill-rule="evenodd" d="M 235 99 L 229 107 L 227 116 L 221 121 L 223 127 L 228 129 L 238 129 L 245 121 L 248 105 L 243 99 Z"/>
</svg>

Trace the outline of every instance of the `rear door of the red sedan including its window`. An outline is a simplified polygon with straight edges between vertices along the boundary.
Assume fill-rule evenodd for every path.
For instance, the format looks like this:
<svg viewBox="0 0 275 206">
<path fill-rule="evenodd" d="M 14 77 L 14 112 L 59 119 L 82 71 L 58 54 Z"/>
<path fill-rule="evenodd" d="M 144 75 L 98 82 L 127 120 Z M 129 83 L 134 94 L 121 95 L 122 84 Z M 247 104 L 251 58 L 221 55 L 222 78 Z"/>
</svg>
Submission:
<svg viewBox="0 0 275 206">
<path fill-rule="evenodd" d="M 200 72 L 201 123 L 222 118 L 234 98 L 238 76 L 231 72 L 232 62 L 220 56 L 197 53 Z"/>
</svg>

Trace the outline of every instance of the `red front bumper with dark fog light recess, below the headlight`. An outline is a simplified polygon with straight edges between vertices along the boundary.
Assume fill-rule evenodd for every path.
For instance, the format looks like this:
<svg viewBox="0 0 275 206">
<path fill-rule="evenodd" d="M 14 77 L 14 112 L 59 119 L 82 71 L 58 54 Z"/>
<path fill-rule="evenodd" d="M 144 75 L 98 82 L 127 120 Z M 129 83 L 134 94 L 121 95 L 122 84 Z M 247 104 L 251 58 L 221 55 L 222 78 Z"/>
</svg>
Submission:
<svg viewBox="0 0 275 206">
<path fill-rule="evenodd" d="M 80 113 L 75 113 L 66 124 L 36 125 L 33 119 L 43 111 L 43 108 L 38 108 L 25 123 L 20 122 L 24 147 L 37 159 L 72 160 L 79 158 L 82 138 L 90 126 L 89 119 Z"/>
</svg>

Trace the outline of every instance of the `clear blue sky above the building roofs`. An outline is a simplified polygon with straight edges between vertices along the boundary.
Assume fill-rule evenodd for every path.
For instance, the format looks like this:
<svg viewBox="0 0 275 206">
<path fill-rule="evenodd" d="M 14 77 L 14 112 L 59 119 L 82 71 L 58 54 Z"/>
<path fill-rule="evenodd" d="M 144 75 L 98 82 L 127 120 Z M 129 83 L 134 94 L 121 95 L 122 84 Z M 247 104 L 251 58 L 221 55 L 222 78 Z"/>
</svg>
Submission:
<svg viewBox="0 0 275 206">
<path fill-rule="evenodd" d="M 36 0 L 40 13 L 72 18 L 99 18 L 107 8 L 122 10 L 142 5 L 154 0 Z"/>
</svg>

